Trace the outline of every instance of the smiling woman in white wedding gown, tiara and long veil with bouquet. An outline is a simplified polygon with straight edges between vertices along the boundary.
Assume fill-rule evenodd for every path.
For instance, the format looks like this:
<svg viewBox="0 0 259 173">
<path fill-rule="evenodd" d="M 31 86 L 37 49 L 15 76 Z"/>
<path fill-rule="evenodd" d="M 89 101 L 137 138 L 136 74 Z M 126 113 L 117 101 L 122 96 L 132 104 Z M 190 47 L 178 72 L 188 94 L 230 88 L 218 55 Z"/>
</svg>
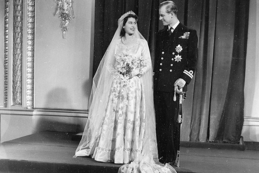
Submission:
<svg viewBox="0 0 259 173">
<path fill-rule="evenodd" d="M 158 161 L 153 76 L 147 41 L 133 11 L 123 14 L 103 56 L 75 156 L 124 164 L 118 172 L 175 172 Z"/>
</svg>

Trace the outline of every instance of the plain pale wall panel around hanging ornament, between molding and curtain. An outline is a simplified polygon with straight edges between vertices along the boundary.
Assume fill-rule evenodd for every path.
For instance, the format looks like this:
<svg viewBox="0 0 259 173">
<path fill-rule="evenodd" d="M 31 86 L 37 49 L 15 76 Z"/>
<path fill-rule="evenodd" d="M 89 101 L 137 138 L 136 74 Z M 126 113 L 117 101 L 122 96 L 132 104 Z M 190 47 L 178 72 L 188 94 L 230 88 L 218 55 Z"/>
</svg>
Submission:
<svg viewBox="0 0 259 173">
<path fill-rule="evenodd" d="M 62 38 L 54 1 L 36 1 L 35 108 L 87 110 L 92 85 L 92 1 L 74 1 Z"/>
</svg>

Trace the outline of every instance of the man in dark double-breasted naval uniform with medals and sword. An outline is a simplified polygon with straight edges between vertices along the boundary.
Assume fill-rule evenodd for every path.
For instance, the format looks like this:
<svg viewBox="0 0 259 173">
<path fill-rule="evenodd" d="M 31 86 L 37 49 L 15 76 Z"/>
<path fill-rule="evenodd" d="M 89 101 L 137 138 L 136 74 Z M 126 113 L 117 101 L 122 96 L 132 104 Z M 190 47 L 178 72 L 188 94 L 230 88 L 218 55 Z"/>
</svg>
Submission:
<svg viewBox="0 0 259 173">
<path fill-rule="evenodd" d="M 162 2 L 159 20 L 164 29 L 157 34 L 154 64 L 154 104 L 159 161 L 174 165 L 177 156 L 179 95 L 173 101 L 174 88 L 187 91 L 197 59 L 197 33 L 177 18 L 174 2 Z"/>
</svg>

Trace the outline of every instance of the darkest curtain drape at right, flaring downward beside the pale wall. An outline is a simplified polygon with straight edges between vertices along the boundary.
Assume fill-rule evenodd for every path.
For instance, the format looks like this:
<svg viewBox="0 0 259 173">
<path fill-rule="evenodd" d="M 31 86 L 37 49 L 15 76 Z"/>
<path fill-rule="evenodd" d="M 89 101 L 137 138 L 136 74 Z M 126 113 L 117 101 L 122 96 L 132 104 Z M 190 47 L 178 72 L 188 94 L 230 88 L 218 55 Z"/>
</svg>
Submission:
<svg viewBox="0 0 259 173">
<path fill-rule="evenodd" d="M 231 69 L 227 95 L 216 136 L 217 142 L 236 144 L 239 143 L 241 136 L 244 122 L 245 57 L 249 19 L 248 8 L 248 2 L 236 0 Z"/>
</svg>

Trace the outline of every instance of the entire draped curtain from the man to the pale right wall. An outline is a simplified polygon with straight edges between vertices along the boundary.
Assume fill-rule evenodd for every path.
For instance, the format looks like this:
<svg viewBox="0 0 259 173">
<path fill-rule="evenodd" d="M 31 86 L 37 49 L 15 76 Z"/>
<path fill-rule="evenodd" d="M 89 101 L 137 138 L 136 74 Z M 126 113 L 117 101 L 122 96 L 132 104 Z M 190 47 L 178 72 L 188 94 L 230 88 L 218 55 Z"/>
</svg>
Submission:
<svg viewBox="0 0 259 173">
<path fill-rule="evenodd" d="M 196 8 L 194 4 L 199 4 Z M 186 129 L 190 141 L 239 143 L 244 118 L 244 76 L 249 1 L 189 1 L 200 17 L 199 62 Z M 195 21 L 187 22 L 187 25 Z M 194 26 L 195 28 L 195 26 Z M 183 137 L 183 136 L 182 136 Z M 185 138 L 184 138 L 185 137 Z M 187 134 L 183 138 L 187 139 Z"/>
</svg>

